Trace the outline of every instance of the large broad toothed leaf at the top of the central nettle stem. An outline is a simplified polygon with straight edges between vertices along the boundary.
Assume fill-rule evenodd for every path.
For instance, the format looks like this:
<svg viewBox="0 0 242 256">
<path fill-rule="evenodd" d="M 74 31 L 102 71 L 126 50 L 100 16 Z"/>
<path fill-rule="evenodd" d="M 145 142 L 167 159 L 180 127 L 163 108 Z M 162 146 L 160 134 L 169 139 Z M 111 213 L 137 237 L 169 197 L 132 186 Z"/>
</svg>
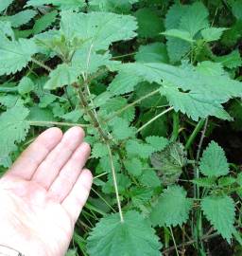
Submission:
<svg viewBox="0 0 242 256">
<path fill-rule="evenodd" d="M 74 38 L 86 42 L 85 46 L 95 50 L 108 49 L 113 43 L 135 37 L 135 18 L 110 12 L 61 13 L 61 33 L 68 40 Z"/>
</svg>

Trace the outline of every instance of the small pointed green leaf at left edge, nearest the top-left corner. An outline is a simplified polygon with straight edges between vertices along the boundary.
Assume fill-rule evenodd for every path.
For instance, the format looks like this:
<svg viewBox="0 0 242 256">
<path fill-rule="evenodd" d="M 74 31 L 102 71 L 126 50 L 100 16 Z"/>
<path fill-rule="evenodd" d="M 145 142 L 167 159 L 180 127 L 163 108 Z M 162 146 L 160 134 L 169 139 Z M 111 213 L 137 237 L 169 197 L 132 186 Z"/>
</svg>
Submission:
<svg viewBox="0 0 242 256">
<path fill-rule="evenodd" d="M 20 27 L 28 23 L 36 14 L 33 9 L 25 9 L 12 16 L 0 17 L 0 20 L 9 21 L 12 27 Z"/>
</svg>

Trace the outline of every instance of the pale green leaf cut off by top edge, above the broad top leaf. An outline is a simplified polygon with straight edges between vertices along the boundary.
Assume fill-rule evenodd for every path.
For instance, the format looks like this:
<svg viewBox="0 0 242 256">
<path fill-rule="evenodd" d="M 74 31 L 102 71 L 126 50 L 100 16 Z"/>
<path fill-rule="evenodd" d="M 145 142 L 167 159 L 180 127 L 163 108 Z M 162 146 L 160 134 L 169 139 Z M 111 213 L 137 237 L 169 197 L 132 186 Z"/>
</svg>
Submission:
<svg viewBox="0 0 242 256">
<path fill-rule="evenodd" d="M 28 0 L 26 3 L 26 7 L 43 5 L 53 5 L 61 9 L 79 9 L 84 7 L 84 0 Z"/>
</svg>

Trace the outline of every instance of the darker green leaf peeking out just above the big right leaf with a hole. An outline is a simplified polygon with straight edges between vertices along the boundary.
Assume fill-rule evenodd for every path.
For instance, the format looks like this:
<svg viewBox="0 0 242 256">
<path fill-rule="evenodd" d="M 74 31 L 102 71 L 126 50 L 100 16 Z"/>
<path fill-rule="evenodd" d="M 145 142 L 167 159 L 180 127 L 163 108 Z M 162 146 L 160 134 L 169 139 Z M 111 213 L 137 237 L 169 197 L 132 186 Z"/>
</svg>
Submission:
<svg viewBox="0 0 242 256">
<path fill-rule="evenodd" d="M 138 63 L 168 63 L 166 46 L 162 43 L 153 43 L 147 46 L 140 46 L 135 54 Z"/>
</svg>

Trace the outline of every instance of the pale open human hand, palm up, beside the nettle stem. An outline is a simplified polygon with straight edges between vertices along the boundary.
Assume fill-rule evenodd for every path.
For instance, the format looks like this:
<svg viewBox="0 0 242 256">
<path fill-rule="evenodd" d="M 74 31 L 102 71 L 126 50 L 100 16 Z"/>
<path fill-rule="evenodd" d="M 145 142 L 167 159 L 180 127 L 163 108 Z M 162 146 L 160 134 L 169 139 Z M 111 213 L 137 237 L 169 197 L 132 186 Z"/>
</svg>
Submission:
<svg viewBox="0 0 242 256">
<path fill-rule="evenodd" d="M 0 179 L 0 245 L 25 256 L 63 256 L 91 186 L 90 146 L 79 127 L 50 128 Z"/>
</svg>

